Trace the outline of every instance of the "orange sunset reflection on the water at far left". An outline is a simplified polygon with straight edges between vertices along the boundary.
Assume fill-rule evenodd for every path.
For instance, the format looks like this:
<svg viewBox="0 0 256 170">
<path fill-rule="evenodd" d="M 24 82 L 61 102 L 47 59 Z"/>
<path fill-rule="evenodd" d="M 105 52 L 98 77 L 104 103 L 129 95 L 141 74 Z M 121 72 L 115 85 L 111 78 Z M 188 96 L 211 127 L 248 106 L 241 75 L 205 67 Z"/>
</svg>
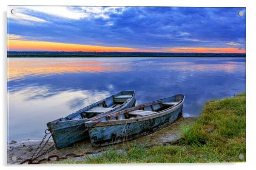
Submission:
<svg viewBox="0 0 256 170">
<path fill-rule="evenodd" d="M 50 75 L 64 72 L 118 72 L 130 70 L 129 65 L 111 66 L 110 61 L 8 61 L 7 79 L 26 75 Z"/>
</svg>

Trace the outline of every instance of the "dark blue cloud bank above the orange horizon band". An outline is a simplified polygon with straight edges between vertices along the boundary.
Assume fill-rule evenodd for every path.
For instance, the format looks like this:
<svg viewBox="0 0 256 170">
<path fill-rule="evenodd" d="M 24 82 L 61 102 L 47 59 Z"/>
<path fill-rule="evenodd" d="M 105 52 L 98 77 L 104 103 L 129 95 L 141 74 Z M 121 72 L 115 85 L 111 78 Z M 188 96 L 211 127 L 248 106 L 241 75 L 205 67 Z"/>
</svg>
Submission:
<svg viewBox="0 0 256 170">
<path fill-rule="evenodd" d="M 80 7 L 68 9 L 74 8 Z M 46 22 L 33 20 L 20 22 L 15 18 L 9 18 L 8 33 L 37 41 L 139 49 L 245 47 L 245 15 L 243 17 L 238 15 L 238 11 L 245 12 L 245 8 L 115 9 L 117 13 L 103 12 L 102 16 L 99 13 L 80 18 L 28 11 L 27 15 Z"/>
</svg>

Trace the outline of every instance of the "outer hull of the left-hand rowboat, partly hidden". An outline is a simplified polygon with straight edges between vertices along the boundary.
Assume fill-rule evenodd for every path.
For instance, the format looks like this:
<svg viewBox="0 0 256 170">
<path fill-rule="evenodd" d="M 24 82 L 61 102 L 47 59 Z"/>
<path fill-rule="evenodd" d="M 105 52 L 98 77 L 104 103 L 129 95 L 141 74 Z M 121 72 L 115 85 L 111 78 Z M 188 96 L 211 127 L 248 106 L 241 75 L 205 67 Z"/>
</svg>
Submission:
<svg viewBox="0 0 256 170">
<path fill-rule="evenodd" d="M 131 101 L 128 104 L 116 109 L 114 112 L 131 108 L 135 105 L 135 102 L 136 100 L 134 96 L 131 98 Z M 85 121 L 87 121 L 87 119 L 48 123 L 47 126 L 51 131 L 51 136 L 57 149 L 64 148 L 74 142 L 78 142 L 89 137 L 88 128 L 86 128 L 84 124 Z"/>
</svg>

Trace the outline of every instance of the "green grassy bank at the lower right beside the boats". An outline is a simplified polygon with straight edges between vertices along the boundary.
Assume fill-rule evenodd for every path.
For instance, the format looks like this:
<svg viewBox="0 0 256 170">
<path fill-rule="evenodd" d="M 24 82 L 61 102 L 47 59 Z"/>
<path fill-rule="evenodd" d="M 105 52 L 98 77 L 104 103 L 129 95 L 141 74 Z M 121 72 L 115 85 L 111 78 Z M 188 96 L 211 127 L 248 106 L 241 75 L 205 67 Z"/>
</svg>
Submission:
<svg viewBox="0 0 256 170">
<path fill-rule="evenodd" d="M 244 158 L 239 159 L 239 154 Z M 245 162 L 245 93 L 205 103 L 202 115 L 183 127 L 176 145 L 135 142 L 120 153 L 114 146 L 92 159 L 68 163 Z"/>
</svg>

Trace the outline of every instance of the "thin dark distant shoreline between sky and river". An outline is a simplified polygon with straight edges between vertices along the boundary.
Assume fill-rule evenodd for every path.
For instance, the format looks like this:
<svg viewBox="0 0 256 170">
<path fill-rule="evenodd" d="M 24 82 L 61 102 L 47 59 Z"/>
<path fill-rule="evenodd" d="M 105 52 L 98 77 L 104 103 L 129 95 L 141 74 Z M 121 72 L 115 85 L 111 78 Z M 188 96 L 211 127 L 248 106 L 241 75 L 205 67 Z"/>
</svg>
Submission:
<svg viewBox="0 0 256 170">
<path fill-rule="evenodd" d="M 7 58 L 112 58 L 112 57 L 245 57 L 245 54 L 205 54 L 205 55 L 75 55 L 75 54 L 7 54 Z"/>
</svg>

